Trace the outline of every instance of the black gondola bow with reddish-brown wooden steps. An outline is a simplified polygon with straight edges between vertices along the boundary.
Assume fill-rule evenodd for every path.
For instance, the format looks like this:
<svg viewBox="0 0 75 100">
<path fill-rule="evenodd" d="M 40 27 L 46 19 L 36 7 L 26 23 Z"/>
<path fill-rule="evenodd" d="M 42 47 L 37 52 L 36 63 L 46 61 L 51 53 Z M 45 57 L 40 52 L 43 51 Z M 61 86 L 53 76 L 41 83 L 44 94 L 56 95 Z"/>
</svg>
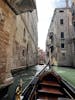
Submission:
<svg viewBox="0 0 75 100">
<path fill-rule="evenodd" d="M 38 74 L 22 93 L 22 100 L 74 100 L 75 91 L 55 71 Z"/>
</svg>

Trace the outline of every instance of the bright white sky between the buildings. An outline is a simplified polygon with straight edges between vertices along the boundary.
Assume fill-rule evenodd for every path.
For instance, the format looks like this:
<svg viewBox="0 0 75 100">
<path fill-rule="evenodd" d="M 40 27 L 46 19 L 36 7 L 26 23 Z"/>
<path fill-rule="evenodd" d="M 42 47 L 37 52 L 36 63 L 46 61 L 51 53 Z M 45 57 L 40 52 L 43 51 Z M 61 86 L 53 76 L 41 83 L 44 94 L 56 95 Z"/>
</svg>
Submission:
<svg viewBox="0 0 75 100">
<path fill-rule="evenodd" d="M 45 51 L 46 37 L 54 9 L 65 7 L 65 0 L 36 0 L 36 5 L 38 12 L 38 47 Z"/>
</svg>

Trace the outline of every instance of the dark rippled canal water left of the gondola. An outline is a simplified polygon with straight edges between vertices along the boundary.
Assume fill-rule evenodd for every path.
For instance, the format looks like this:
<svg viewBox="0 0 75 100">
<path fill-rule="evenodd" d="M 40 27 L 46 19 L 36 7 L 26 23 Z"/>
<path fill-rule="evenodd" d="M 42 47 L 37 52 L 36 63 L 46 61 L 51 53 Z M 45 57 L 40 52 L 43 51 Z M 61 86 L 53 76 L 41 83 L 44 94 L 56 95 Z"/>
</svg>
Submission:
<svg viewBox="0 0 75 100">
<path fill-rule="evenodd" d="M 19 84 L 20 79 L 23 80 L 23 89 L 25 89 L 26 86 L 30 83 L 30 81 L 35 77 L 35 75 L 37 75 L 44 67 L 45 65 L 42 65 L 42 66 L 37 65 L 37 66 L 29 67 L 28 69 L 25 69 L 21 72 L 14 74 L 13 75 L 14 82 L 8 89 L 8 99 L 7 100 L 13 100 L 13 97 L 15 95 L 15 90 Z"/>
</svg>

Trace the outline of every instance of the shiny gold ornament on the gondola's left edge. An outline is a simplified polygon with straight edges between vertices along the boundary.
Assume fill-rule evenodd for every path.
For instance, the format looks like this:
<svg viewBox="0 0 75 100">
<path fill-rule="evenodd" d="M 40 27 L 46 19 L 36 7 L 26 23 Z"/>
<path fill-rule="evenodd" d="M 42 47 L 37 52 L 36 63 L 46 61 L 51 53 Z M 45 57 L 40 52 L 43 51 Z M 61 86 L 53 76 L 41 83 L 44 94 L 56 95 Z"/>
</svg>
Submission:
<svg viewBox="0 0 75 100">
<path fill-rule="evenodd" d="M 15 100 L 21 100 L 22 85 L 23 85 L 23 81 L 22 81 L 22 79 L 20 79 L 19 85 L 16 88 L 16 97 L 15 97 Z"/>
</svg>

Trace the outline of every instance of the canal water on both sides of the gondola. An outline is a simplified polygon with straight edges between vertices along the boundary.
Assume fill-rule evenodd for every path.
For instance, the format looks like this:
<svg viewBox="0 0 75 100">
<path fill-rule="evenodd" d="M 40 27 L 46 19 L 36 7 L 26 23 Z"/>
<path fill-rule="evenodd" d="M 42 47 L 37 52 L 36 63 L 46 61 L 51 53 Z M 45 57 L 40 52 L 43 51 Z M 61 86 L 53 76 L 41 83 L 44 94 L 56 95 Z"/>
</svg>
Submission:
<svg viewBox="0 0 75 100">
<path fill-rule="evenodd" d="M 14 100 L 13 97 L 15 95 L 16 87 L 19 84 L 19 80 L 23 80 L 23 90 L 27 87 L 30 81 L 37 75 L 45 65 L 37 65 L 33 67 L 29 67 L 17 74 L 14 74 L 14 82 L 9 87 L 8 90 L 8 99 L 7 100 Z M 65 67 L 56 67 L 54 66 L 53 69 L 66 81 L 68 81 L 73 87 L 75 87 L 75 69 L 72 68 L 65 68 Z M 49 69 L 48 69 L 49 70 Z"/>
</svg>

